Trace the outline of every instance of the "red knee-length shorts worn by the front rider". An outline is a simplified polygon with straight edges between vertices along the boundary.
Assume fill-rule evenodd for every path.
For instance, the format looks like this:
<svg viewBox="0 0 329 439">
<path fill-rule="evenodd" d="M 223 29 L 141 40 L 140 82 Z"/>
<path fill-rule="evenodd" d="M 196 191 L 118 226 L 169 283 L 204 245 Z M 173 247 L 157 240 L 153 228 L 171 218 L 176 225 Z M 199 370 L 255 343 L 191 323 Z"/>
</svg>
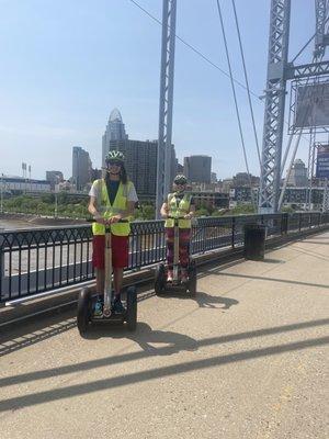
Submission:
<svg viewBox="0 0 329 439">
<path fill-rule="evenodd" d="M 111 235 L 113 268 L 128 264 L 128 236 Z M 104 269 L 105 235 L 95 235 L 92 239 L 92 266 Z"/>
</svg>

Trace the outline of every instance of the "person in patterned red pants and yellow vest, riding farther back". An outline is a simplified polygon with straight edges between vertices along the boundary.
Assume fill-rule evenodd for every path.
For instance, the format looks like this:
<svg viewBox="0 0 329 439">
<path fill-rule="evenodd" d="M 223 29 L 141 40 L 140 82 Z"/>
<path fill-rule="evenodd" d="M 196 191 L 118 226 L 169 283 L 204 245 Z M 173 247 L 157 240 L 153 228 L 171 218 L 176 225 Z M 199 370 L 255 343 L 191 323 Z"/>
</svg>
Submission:
<svg viewBox="0 0 329 439">
<path fill-rule="evenodd" d="M 191 193 L 186 192 L 188 179 L 183 175 L 178 175 L 173 180 L 173 193 L 169 193 L 167 201 L 162 204 L 160 214 L 166 218 L 164 228 L 167 237 L 167 263 L 168 282 L 172 282 L 173 263 L 173 219 L 170 216 L 180 217 L 179 219 L 179 258 L 181 264 L 181 281 L 188 281 L 189 250 L 191 239 L 191 218 L 195 213 L 194 200 Z"/>
</svg>

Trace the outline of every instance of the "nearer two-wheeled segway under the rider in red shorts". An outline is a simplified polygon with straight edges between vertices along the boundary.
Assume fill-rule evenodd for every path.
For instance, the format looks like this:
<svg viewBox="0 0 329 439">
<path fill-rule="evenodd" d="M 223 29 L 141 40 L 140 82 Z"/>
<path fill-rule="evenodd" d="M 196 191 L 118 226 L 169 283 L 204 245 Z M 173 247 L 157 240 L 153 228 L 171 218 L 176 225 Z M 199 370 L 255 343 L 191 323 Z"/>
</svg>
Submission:
<svg viewBox="0 0 329 439">
<path fill-rule="evenodd" d="M 89 221 L 89 219 L 88 219 Z M 90 219 L 89 222 L 94 222 Z M 127 219 L 120 219 L 120 223 L 127 223 Z M 105 279 L 104 279 L 104 303 L 101 315 L 94 316 L 93 308 L 97 299 L 92 297 L 91 291 L 83 288 L 78 299 L 77 325 L 80 335 L 83 336 L 90 324 L 110 323 L 124 324 L 126 322 L 129 330 L 135 330 L 137 325 L 137 290 L 136 286 L 127 289 L 126 309 L 124 313 L 113 312 L 113 289 L 112 289 L 112 247 L 111 247 L 111 225 L 105 226 Z"/>
</svg>

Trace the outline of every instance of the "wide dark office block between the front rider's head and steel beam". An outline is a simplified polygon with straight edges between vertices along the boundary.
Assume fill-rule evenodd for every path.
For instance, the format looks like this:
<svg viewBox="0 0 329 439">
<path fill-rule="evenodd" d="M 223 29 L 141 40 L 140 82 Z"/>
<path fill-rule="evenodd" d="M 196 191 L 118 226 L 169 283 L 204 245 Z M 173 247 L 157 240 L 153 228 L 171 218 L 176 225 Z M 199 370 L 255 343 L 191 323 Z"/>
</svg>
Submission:
<svg viewBox="0 0 329 439">
<path fill-rule="evenodd" d="M 157 189 L 158 142 L 111 140 L 110 148 L 125 155 L 125 168 L 134 182 L 138 198 L 155 201 Z M 171 148 L 170 183 L 177 173 L 175 151 Z"/>
</svg>

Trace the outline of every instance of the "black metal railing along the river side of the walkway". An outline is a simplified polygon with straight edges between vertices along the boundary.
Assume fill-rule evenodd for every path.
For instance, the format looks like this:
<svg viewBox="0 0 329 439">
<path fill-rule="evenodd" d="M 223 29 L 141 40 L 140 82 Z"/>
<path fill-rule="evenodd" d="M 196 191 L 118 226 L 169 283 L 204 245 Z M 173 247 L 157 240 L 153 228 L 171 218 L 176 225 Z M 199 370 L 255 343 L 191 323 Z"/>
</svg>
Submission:
<svg viewBox="0 0 329 439">
<path fill-rule="evenodd" d="M 281 236 L 329 224 L 327 213 L 240 215 L 198 218 L 193 226 L 193 255 L 243 245 L 243 226 L 266 225 L 266 236 Z M 162 221 L 132 224 L 127 270 L 166 258 Z M 90 281 L 90 225 L 0 233 L 0 303 Z"/>
</svg>

